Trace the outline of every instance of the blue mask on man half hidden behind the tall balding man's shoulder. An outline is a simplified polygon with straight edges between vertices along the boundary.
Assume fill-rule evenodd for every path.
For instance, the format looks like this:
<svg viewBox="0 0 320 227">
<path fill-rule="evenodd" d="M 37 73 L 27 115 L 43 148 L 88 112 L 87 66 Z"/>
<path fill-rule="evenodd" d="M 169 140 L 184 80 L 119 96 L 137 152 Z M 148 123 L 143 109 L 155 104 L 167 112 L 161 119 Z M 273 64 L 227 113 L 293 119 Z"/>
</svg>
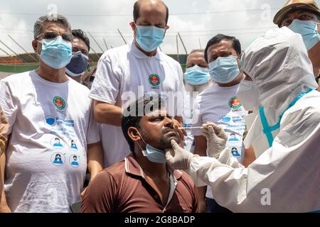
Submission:
<svg viewBox="0 0 320 227">
<path fill-rule="evenodd" d="M 184 79 L 191 85 L 207 84 L 210 80 L 210 71 L 209 69 L 195 65 L 186 69 Z"/>
</svg>

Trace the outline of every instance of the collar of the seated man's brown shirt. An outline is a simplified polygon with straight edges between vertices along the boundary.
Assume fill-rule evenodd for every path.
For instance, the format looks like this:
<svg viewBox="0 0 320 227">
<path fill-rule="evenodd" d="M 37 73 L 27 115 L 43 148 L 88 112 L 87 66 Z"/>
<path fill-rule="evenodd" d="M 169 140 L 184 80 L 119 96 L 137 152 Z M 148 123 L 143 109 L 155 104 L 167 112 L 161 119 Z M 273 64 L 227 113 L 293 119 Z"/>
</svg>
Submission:
<svg viewBox="0 0 320 227">
<path fill-rule="evenodd" d="M 133 155 L 129 155 L 124 159 L 124 165 L 126 169 L 126 173 L 129 173 L 131 175 L 136 175 L 138 177 L 144 177 L 144 171 L 142 170 L 142 167 L 140 167 L 139 163 L 134 159 Z M 171 176 L 174 176 L 174 181 L 178 182 L 179 179 L 182 177 L 182 172 L 179 170 L 172 170 L 169 165 L 166 165 L 166 169 L 170 172 Z"/>
</svg>

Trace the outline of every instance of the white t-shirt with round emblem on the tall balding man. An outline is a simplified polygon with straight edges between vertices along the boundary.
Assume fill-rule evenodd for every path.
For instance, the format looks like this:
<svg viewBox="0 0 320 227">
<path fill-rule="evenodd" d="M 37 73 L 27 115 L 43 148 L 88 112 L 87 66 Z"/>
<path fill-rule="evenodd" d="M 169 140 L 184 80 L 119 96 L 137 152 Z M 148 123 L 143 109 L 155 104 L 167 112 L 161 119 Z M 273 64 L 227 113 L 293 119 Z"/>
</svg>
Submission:
<svg viewBox="0 0 320 227">
<path fill-rule="evenodd" d="M 125 97 L 128 92 L 134 94 L 135 98 Z M 146 92 L 185 92 L 183 73 L 178 62 L 159 49 L 154 57 L 148 57 L 133 41 L 102 55 L 92 84 L 91 99 L 123 107 Z M 165 98 L 165 95 L 162 96 Z M 183 101 L 175 104 L 176 116 L 182 116 L 182 105 Z M 104 167 L 114 165 L 130 153 L 121 127 L 102 124 L 102 145 L 105 152 Z"/>
</svg>

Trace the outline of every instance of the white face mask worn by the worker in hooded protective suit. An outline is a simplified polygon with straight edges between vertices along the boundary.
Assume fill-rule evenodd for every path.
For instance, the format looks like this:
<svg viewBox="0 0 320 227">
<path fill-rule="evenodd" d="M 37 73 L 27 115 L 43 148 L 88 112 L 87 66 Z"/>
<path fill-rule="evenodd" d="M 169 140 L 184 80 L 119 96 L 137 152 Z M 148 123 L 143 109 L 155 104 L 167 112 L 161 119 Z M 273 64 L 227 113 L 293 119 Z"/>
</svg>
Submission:
<svg viewBox="0 0 320 227">
<path fill-rule="evenodd" d="M 237 94 L 245 110 L 255 112 L 259 109 L 259 92 L 254 82 L 242 80 Z"/>
</svg>

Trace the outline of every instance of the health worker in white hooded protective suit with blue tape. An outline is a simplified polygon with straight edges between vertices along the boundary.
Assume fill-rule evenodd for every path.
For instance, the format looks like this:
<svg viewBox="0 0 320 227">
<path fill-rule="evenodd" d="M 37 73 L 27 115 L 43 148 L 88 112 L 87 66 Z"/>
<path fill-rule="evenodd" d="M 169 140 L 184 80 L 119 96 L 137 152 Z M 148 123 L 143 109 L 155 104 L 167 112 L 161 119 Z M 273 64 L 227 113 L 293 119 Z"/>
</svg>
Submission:
<svg viewBox="0 0 320 227">
<path fill-rule="evenodd" d="M 301 35 L 277 28 L 257 38 L 242 59 L 238 96 L 255 120 L 245 139 L 257 159 L 247 168 L 224 148 L 226 136 L 203 125 L 210 157 L 171 141 L 166 159 L 188 170 L 197 186 L 233 212 L 311 212 L 320 209 L 320 93 Z"/>
</svg>

